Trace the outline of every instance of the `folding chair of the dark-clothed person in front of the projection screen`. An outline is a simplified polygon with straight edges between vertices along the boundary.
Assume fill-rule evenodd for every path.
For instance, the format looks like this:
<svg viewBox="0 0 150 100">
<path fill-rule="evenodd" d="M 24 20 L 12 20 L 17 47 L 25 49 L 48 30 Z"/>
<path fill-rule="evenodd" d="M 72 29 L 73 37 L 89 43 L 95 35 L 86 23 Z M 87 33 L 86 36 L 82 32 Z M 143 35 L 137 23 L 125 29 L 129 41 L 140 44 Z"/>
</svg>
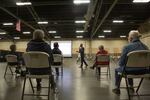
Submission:
<svg viewBox="0 0 150 100">
<path fill-rule="evenodd" d="M 62 54 L 53 54 L 53 68 L 60 68 L 61 69 L 61 75 L 63 76 L 63 55 Z"/>
</svg>

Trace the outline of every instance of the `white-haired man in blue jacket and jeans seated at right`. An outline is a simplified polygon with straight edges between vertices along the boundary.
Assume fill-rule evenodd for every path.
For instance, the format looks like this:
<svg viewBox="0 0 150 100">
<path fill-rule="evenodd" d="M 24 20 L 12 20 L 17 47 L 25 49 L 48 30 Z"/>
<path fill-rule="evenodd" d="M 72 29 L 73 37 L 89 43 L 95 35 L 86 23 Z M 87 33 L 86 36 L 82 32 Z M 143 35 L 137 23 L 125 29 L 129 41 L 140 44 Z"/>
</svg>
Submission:
<svg viewBox="0 0 150 100">
<path fill-rule="evenodd" d="M 139 40 L 140 36 L 141 35 L 136 30 L 130 31 L 130 33 L 129 33 L 129 36 L 128 36 L 129 44 L 123 48 L 123 51 L 122 51 L 122 54 L 121 54 L 121 57 L 119 60 L 119 68 L 115 69 L 115 86 L 116 86 L 116 88 L 113 89 L 113 92 L 115 94 L 120 94 L 121 75 L 119 75 L 119 73 L 121 73 L 123 71 L 123 68 L 126 65 L 127 54 L 129 52 L 136 51 L 136 50 L 148 50 L 148 47 Z M 127 72 L 132 73 L 132 74 L 134 74 L 134 73 L 142 74 L 142 73 L 148 72 L 148 70 L 145 68 L 139 68 L 138 70 L 135 70 L 133 68 L 128 68 Z M 133 79 L 129 78 L 128 82 L 129 82 L 130 89 L 134 92 Z"/>
</svg>

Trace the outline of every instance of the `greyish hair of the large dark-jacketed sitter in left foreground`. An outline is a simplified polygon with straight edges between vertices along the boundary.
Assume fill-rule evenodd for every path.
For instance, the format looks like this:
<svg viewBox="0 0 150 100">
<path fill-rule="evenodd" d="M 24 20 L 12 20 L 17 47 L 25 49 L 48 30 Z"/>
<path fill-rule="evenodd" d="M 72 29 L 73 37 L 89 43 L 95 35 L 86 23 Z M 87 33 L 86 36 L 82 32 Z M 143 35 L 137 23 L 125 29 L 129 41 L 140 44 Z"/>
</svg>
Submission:
<svg viewBox="0 0 150 100">
<path fill-rule="evenodd" d="M 34 32 L 33 32 L 33 39 L 39 39 L 39 40 L 42 40 L 44 39 L 44 31 L 43 30 L 40 30 L 40 29 L 36 29 Z"/>
</svg>

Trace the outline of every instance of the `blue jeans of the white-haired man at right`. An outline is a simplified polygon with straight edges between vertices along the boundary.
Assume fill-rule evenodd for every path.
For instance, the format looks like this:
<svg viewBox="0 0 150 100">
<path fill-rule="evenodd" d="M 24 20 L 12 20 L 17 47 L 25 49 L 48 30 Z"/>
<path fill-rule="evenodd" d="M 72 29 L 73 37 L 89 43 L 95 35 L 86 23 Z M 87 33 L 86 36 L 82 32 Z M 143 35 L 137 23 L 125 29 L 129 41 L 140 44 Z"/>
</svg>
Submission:
<svg viewBox="0 0 150 100">
<path fill-rule="evenodd" d="M 121 83 L 121 75 L 119 73 L 123 72 L 123 67 L 119 67 L 115 69 L 115 86 L 117 88 L 120 88 L 120 83 Z M 149 69 L 146 68 L 126 68 L 127 74 L 130 75 L 141 75 L 141 74 L 146 74 L 150 73 Z M 130 86 L 133 86 L 133 79 L 128 78 L 128 83 Z"/>
</svg>

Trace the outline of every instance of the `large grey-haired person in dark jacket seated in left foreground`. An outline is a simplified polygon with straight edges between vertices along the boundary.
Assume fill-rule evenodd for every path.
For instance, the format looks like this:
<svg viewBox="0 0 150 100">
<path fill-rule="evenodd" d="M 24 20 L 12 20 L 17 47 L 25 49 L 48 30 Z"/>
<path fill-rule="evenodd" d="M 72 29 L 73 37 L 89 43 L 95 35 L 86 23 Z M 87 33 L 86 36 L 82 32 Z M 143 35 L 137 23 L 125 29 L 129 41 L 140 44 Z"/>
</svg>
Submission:
<svg viewBox="0 0 150 100">
<path fill-rule="evenodd" d="M 50 46 L 44 41 L 44 31 L 43 30 L 35 30 L 33 32 L 33 39 L 27 44 L 27 52 L 29 51 L 40 51 L 49 54 L 49 63 L 53 62 L 53 55 Z M 47 66 L 46 66 L 47 67 Z M 31 74 L 52 74 L 51 66 L 49 68 L 38 68 L 38 69 L 28 69 Z M 54 79 L 51 78 L 52 88 L 55 88 Z M 36 79 L 37 81 L 37 90 L 41 89 L 41 79 Z"/>
</svg>

